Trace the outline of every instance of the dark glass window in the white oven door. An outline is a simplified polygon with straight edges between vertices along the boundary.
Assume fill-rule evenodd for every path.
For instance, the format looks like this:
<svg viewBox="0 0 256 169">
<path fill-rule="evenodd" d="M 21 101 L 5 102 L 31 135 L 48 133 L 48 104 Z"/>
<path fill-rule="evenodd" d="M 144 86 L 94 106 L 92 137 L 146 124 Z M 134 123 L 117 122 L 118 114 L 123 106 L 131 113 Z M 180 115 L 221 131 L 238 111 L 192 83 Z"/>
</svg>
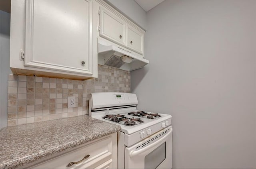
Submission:
<svg viewBox="0 0 256 169">
<path fill-rule="evenodd" d="M 156 169 L 166 158 L 166 142 L 145 157 L 145 169 Z"/>
</svg>

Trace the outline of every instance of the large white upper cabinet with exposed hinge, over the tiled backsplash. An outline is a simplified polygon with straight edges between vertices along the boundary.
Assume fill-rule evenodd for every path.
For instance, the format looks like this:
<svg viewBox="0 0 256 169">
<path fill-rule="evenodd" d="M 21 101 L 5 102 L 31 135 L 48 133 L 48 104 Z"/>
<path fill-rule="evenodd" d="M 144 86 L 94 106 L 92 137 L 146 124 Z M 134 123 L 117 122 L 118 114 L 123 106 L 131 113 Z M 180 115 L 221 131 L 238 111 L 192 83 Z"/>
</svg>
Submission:
<svg viewBox="0 0 256 169">
<path fill-rule="evenodd" d="M 25 16 L 24 25 L 17 28 L 13 24 L 17 25 L 22 18 L 18 11 L 11 15 L 10 67 L 14 74 L 70 79 L 97 77 L 91 0 L 25 0 L 25 6 L 21 3 L 12 0 L 12 8 L 20 11 L 24 8 Z M 24 35 L 14 35 L 22 27 Z M 24 47 L 15 42 L 17 38 L 24 38 Z M 19 50 L 24 51 L 23 61 L 17 55 Z"/>
</svg>

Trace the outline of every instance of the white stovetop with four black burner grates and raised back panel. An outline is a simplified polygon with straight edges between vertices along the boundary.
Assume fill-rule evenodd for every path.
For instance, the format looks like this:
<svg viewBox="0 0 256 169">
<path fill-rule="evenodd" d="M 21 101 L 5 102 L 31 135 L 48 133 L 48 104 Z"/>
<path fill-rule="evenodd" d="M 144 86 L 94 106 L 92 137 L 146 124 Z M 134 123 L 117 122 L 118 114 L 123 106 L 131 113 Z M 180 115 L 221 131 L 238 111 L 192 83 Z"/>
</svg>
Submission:
<svg viewBox="0 0 256 169">
<path fill-rule="evenodd" d="M 139 136 L 142 130 L 144 132 L 152 130 L 153 133 L 171 125 L 171 115 L 139 111 L 137 105 L 136 94 L 122 92 L 91 93 L 89 115 L 98 120 L 120 125 L 121 132 L 136 136 Z"/>
</svg>

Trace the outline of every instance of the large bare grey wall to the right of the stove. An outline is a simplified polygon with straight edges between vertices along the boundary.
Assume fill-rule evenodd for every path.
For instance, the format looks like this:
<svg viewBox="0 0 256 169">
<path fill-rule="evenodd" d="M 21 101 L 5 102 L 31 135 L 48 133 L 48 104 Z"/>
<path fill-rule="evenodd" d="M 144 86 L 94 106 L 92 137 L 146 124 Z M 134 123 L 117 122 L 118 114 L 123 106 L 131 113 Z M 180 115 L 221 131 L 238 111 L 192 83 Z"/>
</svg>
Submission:
<svg viewBox="0 0 256 169">
<path fill-rule="evenodd" d="M 165 0 L 147 12 L 139 109 L 171 114 L 174 168 L 256 168 L 256 1 Z"/>
</svg>

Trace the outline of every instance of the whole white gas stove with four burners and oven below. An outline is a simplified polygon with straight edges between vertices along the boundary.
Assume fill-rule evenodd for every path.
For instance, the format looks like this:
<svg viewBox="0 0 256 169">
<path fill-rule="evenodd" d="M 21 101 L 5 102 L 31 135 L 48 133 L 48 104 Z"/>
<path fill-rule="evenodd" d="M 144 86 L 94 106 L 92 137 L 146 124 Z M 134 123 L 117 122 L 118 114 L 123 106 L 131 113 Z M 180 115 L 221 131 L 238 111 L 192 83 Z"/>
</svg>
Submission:
<svg viewBox="0 0 256 169">
<path fill-rule="evenodd" d="M 172 116 L 137 110 L 137 104 L 132 93 L 92 93 L 89 114 L 121 126 L 118 168 L 171 168 Z"/>
</svg>

